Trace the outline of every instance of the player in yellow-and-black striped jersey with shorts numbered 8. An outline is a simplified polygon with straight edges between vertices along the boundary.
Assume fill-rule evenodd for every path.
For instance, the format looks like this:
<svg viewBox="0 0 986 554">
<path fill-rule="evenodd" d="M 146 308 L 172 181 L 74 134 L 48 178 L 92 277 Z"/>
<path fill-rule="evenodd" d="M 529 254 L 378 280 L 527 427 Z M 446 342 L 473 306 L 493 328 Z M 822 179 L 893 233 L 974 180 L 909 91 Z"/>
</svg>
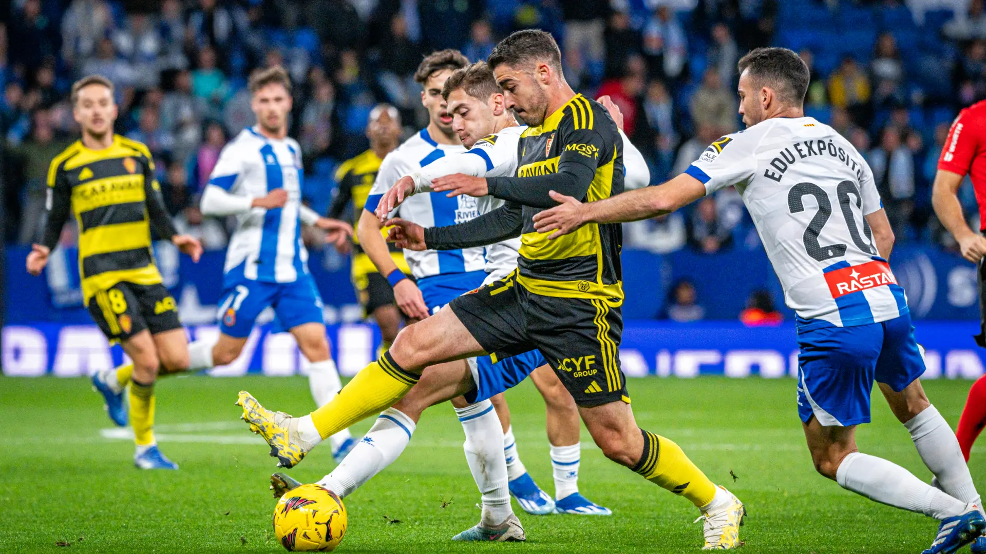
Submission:
<svg viewBox="0 0 986 554">
<path fill-rule="evenodd" d="M 154 439 L 154 381 L 159 372 L 188 368 L 188 342 L 175 299 L 154 264 L 150 224 L 196 262 L 202 246 L 177 234 L 147 147 L 113 133 L 112 83 L 100 75 L 84 77 L 72 86 L 71 102 L 82 137 L 51 161 L 47 223 L 41 242 L 28 254 L 28 271 L 40 274 L 69 213 L 74 214 L 86 306 L 106 337 L 119 342 L 133 361 L 121 368 L 121 379 L 110 370 L 93 376 L 93 383 L 107 398 L 110 416 L 125 425 L 122 394 L 130 382 L 134 465 L 177 469 Z"/>
</svg>

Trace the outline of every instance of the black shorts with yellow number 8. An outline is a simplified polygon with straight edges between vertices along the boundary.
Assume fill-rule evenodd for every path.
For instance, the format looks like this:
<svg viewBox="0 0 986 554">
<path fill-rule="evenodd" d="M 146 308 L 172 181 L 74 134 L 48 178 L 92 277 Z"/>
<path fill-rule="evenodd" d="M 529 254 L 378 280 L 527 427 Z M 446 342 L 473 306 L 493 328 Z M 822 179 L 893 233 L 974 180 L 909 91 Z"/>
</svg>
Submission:
<svg viewBox="0 0 986 554">
<path fill-rule="evenodd" d="M 89 313 L 109 340 L 127 340 L 144 329 L 154 335 L 181 328 L 175 298 L 161 284 L 116 283 L 89 299 Z"/>
</svg>

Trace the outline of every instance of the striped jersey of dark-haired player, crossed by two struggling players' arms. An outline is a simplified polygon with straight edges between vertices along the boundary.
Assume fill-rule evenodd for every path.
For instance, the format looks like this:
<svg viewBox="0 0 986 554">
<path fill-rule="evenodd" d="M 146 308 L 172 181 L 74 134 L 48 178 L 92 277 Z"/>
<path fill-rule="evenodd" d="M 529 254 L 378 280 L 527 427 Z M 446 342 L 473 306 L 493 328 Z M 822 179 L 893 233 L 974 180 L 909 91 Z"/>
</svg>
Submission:
<svg viewBox="0 0 986 554">
<path fill-rule="evenodd" d="M 384 193 L 400 177 L 421 171 L 432 162 L 449 154 L 465 152 L 461 145 L 438 144 L 427 129 L 404 141 L 396 150 L 387 154 L 377 173 L 364 209 L 375 211 Z M 447 192 L 415 194 L 397 207 L 395 214 L 421 227 L 443 227 L 464 223 L 479 215 L 476 199 L 460 195 L 453 198 Z M 404 258 L 416 279 L 434 275 L 481 271 L 485 265 L 483 248 L 457 250 L 404 250 Z"/>
</svg>

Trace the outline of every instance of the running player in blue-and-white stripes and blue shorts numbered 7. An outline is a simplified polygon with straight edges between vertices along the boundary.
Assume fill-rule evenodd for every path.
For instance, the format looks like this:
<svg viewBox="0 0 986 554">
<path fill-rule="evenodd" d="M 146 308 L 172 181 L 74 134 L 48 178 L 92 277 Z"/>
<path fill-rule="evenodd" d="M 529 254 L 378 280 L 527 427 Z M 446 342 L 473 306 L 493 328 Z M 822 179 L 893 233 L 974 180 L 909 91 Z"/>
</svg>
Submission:
<svg viewBox="0 0 986 554">
<path fill-rule="evenodd" d="M 287 136 L 287 73 L 280 67 L 258 72 L 249 88 L 257 124 L 226 145 L 202 194 L 204 215 L 237 218 L 223 270 L 221 334 L 218 342 L 193 342 L 189 355 L 196 368 L 232 363 L 243 352 L 257 315 L 273 308 L 276 325 L 295 336 L 310 362 L 309 382 L 320 406 L 342 384 L 329 354 L 321 299 L 308 270 L 301 228 L 315 226 L 328 233 L 326 241 L 338 242 L 346 241 L 352 228 L 302 205 L 301 147 Z M 331 440 L 338 459 L 354 445 L 349 431 Z"/>
</svg>

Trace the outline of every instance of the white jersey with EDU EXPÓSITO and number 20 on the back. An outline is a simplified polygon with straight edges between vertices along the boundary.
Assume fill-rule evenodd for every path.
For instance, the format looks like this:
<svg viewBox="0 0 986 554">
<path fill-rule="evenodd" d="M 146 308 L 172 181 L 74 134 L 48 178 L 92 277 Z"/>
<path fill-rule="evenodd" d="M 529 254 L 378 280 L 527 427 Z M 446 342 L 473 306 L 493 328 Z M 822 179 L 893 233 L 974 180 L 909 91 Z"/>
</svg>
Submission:
<svg viewBox="0 0 986 554">
<path fill-rule="evenodd" d="M 767 119 L 712 143 L 685 173 L 709 194 L 736 186 L 801 328 L 907 312 L 865 218 L 882 207 L 873 172 L 828 125 Z"/>
</svg>

